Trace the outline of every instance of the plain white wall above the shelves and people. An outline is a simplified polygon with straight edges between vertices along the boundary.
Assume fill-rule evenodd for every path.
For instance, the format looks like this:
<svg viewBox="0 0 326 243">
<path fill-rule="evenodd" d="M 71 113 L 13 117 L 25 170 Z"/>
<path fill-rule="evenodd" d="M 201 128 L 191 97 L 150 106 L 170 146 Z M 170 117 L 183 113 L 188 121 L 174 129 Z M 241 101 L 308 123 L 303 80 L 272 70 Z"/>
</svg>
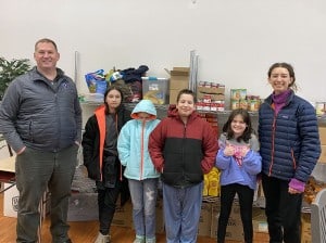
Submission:
<svg viewBox="0 0 326 243">
<path fill-rule="evenodd" d="M 87 90 L 84 75 L 99 68 L 189 65 L 199 79 L 271 92 L 274 62 L 294 66 L 299 95 L 326 101 L 325 0 L 0 0 L 0 55 L 33 59 L 37 39 L 57 41 L 59 66 Z"/>
</svg>

